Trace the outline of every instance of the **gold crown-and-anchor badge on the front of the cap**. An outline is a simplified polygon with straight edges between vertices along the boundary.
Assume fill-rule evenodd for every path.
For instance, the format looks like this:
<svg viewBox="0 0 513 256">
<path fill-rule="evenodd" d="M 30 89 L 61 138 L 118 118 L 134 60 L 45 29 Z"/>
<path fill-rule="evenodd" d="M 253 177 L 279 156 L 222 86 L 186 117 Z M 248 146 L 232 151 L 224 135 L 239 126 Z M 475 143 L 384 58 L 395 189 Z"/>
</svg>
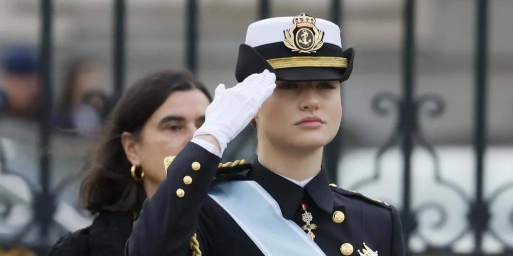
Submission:
<svg viewBox="0 0 513 256">
<path fill-rule="evenodd" d="M 324 32 L 315 27 L 315 18 L 301 13 L 292 19 L 291 28 L 283 31 L 285 41 L 283 43 L 293 52 L 312 53 L 321 49 L 324 45 Z"/>
</svg>

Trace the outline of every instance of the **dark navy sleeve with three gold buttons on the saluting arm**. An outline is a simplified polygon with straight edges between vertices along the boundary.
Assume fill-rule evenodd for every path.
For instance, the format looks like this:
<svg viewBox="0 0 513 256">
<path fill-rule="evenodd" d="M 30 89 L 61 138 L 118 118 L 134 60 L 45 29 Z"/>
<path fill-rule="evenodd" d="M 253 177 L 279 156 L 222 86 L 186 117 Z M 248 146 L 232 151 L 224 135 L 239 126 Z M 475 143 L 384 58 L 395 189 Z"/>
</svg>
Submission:
<svg viewBox="0 0 513 256">
<path fill-rule="evenodd" d="M 169 165 L 168 177 L 144 202 L 126 243 L 126 255 L 190 256 L 196 243 L 207 251 L 212 223 L 203 205 L 220 161 L 219 156 L 189 142 Z"/>
</svg>

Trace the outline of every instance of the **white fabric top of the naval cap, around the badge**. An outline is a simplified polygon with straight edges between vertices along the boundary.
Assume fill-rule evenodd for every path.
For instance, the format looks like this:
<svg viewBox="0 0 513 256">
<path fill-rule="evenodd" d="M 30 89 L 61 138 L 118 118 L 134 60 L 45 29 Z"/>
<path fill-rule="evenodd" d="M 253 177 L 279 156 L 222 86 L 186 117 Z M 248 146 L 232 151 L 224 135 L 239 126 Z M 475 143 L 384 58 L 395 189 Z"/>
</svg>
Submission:
<svg viewBox="0 0 513 256">
<path fill-rule="evenodd" d="M 275 42 L 282 42 L 285 37 L 283 31 L 293 25 L 294 17 L 275 17 L 259 20 L 248 26 L 245 44 L 258 47 Z M 341 31 L 339 26 L 328 20 L 315 18 L 315 27 L 324 31 L 323 41 L 342 48 Z"/>
</svg>

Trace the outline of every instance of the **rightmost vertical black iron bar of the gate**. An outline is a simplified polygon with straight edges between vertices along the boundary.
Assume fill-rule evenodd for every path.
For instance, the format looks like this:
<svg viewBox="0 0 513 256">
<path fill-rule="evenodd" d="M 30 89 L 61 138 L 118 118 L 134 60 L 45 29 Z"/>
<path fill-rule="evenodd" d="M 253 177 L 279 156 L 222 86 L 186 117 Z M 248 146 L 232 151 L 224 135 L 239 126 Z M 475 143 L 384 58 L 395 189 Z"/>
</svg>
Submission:
<svg viewBox="0 0 513 256">
<path fill-rule="evenodd" d="M 488 63 L 488 1 L 476 1 L 476 91 L 474 119 L 474 150 L 476 152 L 476 202 L 484 204 L 484 154 L 486 147 L 486 84 Z M 484 220 L 474 220 L 484 221 Z M 482 254 L 483 233 L 487 225 L 476 225 L 475 244 L 477 254 Z"/>
</svg>

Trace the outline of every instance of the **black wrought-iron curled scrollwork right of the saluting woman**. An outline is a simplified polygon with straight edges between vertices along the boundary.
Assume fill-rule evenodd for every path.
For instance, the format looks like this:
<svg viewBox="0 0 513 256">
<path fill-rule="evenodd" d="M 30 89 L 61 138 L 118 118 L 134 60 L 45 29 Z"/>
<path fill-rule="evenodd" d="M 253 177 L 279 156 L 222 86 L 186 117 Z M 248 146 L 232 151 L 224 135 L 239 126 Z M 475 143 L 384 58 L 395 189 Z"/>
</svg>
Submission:
<svg viewBox="0 0 513 256">
<path fill-rule="evenodd" d="M 511 241 L 507 241 L 505 237 L 501 237 L 497 230 L 494 227 L 489 225 L 490 220 L 492 218 L 492 214 L 490 212 L 490 208 L 493 204 L 497 203 L 498 198 L 513 189 L 513 182 L 508 182 L 500 187 L 498 187 L 495 191 L 492 191 L 490 196 L 484 198 L 482 201 L 476 201 L 467 193 L 465 190 L 455 182 L 447 180 L 443 178 L 440 169 L 440 159 L 439 156 L 433 147 L 432 144 L 428 142 L 426 139 L 424 132 L 422 130 L 422 125 L 420 125 L 419 118 L 421 116 L 427 116 L 429 118 L 438 118 L 443 115 L 445 111 L 445 103 L 441 96 L 436 94 L 424 94 L 422 96 L 417 97 L 412 101 L 412 115 L 413 116 L 404 116 L 404 108 L 406 107 L 403 99 L 399 98 L 396 95 L 393 95 L 388 92 L 383 92 L 377 94 L 371 102 L 371 108 L 374 114 L 381 117 L 391 116 L 394 111 L 397 111 L 398 120 L 387 137 L 385 142 L 381 144 L 377 151 L 376 157 L 374 159 L 374 169 L 368 178 L 364 178 L 356 183 L 354 183 L 350 188 L 361 190 L 362 187 L 370 185 L 372 183 L 376 183 L 381 178 L 381 166 L 380 162 L 382 160 L 383 155 L 388 152 L 392 147 L 400 144 L 401 139 L 406 136 L 404 134 L 403 122 L 406 121 L 406 118 L 412 118 L 413 120 L 409 120 L 409 123 L 412 126 L 412 136 L 413 142 L 417 147 L 420 147 L 427 151 L 429 156 L 434 162 L 434 174 L 435 174 L 435 182 L 441 186 L 449 188 L 453 193 L 455 193 L 462 202 L 469 206 L 468 208 L 468 220 L 469 223 L 462 230 L 458 231 L 450 240 L 445 241 L 444 246 L 432 246 L 430 245 L 428 236 L 426 236 L 422 230 L 417 230 L 417 219 L 418 217 L 426 211 L 436 211 L 439 214 L 439 218 L 435 223 L 433 223 L 430 228 L 432 229 L 442 229 L 449 221 L 449 210 L 440 202 L 436 201 L 428 201 L 418 205 L 415 209 L 411 209 L 411 212 L 403 213 L 403 218 L 407 219 L 406 223 L 410 226 L 405 227 L 406 230 L 409 230 L 409 233 L 413 233 L 413 231 L 417 231 L 416 234 L 418 237 L 423 240 L 424 243 L 428 246 L 428 250 L 431 252 L 447 252 L 451 251 L 451 245 L 455 242 L 460 241 L 466 234 L 471 232 L 472 230 L 485 230 L 488 231 L 493 238 L 495 238 L 498 242 L 511 250 L 513 246 L 511 245 Z M 476 181 L 483 182 L 483 181 Z M 411 192 L 411 191 L 410 191 Z M 409 219 L 408 219 L 409 218 Z M 507 223 L 511 228 L 513 228 L 513 207 L 511 207 L 510 211 L 507 214 Z M 403 220 L 404 221 L 404 220 Z M 429 249 L 431 248 L 431 249 Z"/>
</svg>

